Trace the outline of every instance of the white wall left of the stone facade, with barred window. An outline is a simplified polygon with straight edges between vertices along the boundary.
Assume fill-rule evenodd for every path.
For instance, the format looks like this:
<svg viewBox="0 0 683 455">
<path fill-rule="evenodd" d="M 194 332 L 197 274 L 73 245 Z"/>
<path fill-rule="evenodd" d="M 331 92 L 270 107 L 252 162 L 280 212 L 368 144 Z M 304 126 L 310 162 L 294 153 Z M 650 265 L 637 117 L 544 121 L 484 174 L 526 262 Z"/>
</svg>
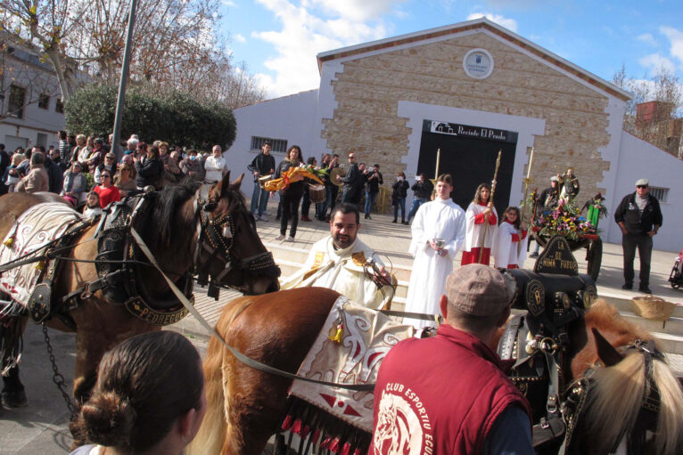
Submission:
<svg viewBox="0 0 683 455">
<path fill-rule="evenodd" d="M 316 129 L 317 90 L 296 93 L 275 100 L 259 102 L 236 109 L 237 134 L 235 142 L 224 153 L 227 165 L 232 172 L 231 179 L 240 174 L 244 176 L 243 192 L 251 197 L 253 181 L 247 166 L 260 150 L 251 149 L 251 136 L 286 139 L 287 147 L 299 145 L 301 154 L 308 159 L 315 156 L 318 161 L 322 150 L 319 149 L 320 126 Z M 276 165 L 284 159 L 283 154 L 273 153 Z M 248 184 L 246 184 L 248 183 Z"/>
</svg>

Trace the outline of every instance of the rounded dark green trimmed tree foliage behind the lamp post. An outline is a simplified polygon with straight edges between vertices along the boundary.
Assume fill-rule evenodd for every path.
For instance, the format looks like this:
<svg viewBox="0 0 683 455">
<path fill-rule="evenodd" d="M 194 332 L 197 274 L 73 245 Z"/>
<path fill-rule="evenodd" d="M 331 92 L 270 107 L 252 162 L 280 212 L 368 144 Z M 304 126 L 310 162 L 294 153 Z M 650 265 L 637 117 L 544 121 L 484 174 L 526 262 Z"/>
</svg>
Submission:
<svg viewBox="0 0 683 455">
<path fill-rule="evenodd" d="M 67 129 L 74 134 L 106 137 L 114 124 L 117 88 L 87 85 L 66 102 Z M 137 134 L 141 141 L 157 139 L 172 144 L 210 150 L 219 144 L 224 150 L 235 141 L 233 111 L 217 102 L 198 102 L 187 93 L 154 95 L 140 87 L 126 93 L 121 138 Z"/>
</svg>

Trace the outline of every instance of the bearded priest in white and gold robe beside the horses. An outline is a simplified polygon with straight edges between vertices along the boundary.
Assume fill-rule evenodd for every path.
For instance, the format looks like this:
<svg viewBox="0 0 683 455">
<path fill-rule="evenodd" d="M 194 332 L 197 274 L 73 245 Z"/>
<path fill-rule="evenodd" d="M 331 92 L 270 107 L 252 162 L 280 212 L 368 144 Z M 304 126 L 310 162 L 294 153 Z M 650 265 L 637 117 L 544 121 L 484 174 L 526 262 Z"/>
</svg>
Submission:
<svg viewBox="0 0 683 455">
<path fill-rule="evenodd" d="M 330 288 L 373 309 L 390 304 L 396 279 L 384 270 L 373 249 L 358 240 L 359 227 L 358 207 L 349 203 L 334 206 L 332 235 L 313 244 L 303 267 L 280 288 Z"/>
</svg>

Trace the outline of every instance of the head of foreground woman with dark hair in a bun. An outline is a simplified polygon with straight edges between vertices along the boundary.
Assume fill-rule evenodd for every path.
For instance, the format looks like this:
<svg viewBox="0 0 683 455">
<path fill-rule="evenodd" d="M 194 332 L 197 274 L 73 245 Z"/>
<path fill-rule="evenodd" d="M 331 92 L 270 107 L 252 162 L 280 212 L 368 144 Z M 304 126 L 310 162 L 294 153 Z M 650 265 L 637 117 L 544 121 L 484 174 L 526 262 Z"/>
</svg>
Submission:
<svg viewBox="0 0 683 455">
<path fill-rule="evenodd" d="M 89 444 L 71 455 L 180 454 L 205 411 L 194 346 L 172 331 L 131 337 L 104 354 L 74 426 Z"/>
</svg>

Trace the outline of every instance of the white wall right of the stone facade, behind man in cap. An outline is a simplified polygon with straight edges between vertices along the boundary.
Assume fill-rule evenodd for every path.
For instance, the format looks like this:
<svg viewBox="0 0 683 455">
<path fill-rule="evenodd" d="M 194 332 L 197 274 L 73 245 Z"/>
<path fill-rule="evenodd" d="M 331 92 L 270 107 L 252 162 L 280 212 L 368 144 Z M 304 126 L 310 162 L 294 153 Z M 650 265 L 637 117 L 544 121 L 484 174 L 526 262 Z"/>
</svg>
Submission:
<svg viewBox="0 0 683 455">
<path fill-rule="evenodd" d="M 600 221 L 603 239 L 613 243 L 621 243 L 621 231 L 614 223 L 614 210 L 621 199 L 636 191 L 636 181 L 646 178 L 651 186 L 669 188 L 667 202 L 661 202 L 664 218 L 662 229 L 654 236 L 654 248 L 678 253 L 683 248 L 683 161 L 654 145 L 638 139 L 625 131 L 621 132 L 621 149 L 613 168 L 617 178 L 613 197 L 608 198 L 607 207 L 610 210 L 606 219 Z M 609 190 L 609 189 L 608 189 Z M 611 229 L 605 235 L 605 224 Z"/>
</svg>

